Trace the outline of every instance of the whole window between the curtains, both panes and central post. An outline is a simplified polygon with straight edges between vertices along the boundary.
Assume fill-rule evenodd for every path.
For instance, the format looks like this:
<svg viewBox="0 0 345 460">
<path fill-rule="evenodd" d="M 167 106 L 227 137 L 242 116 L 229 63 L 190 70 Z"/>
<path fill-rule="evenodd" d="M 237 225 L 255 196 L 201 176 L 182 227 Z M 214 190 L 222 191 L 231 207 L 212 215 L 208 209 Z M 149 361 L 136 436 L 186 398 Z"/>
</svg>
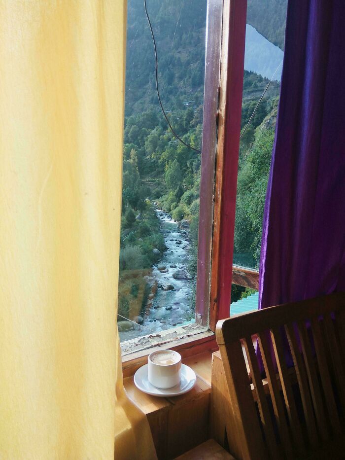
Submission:
<svg viewBox="0 0 345 460">
<path fill-rule="evenodd" d="M 254 206 L 255 200 L 248 199 L 243 184 L 254 150 L 262 155 L 257 138 L 262 123 L 276 110 L 278 80 L 270 84 L 241 145 L 239 138 L 267 86 L 267 75 L 281 58 L 276 37 L 283 34 L 286 12 L 286 1 L 275 0 L 267 0 L 272 15 L 255 0 L 248 1 L 248 14 L 243 0 L 176 1 L 169 7 L 164 1 L 147 3 L 167 116 L 185 142 L 197 150 L 202 145 L 203 154 L 181 145 L 167 129 L 157 103 L 152 41 L 141 0 L 130 0 L 118 319 L 123 343 L 133 337 L 143 348 L 168 342 L 171 327 L 179 329 L 177 334 L 182 328 L 182 335 L 191 335 L 203 326 L 198 337 L 204 340 L 202 331 L 214 332 L 217 320 L 229 316 L 232 282 L 242 286 L 238 301 L 251 296 L 255 301 L 258 259 L 253 248 L 261 233 L 259 214 L 272 147 L 264 151 L 264 167 L 250 176 L 262 189 L 251 197 L 261 199 L 256 227 L 245 214 L 246 205 Z M 269 17 L 280 21 L 272 30 Z M 267 51 L 265 40 L 274 48 Z M 255 60 L 259 51 L 266 61 Z M 268 144 L 273 129 L 269 135 Z"/>
</svg>

